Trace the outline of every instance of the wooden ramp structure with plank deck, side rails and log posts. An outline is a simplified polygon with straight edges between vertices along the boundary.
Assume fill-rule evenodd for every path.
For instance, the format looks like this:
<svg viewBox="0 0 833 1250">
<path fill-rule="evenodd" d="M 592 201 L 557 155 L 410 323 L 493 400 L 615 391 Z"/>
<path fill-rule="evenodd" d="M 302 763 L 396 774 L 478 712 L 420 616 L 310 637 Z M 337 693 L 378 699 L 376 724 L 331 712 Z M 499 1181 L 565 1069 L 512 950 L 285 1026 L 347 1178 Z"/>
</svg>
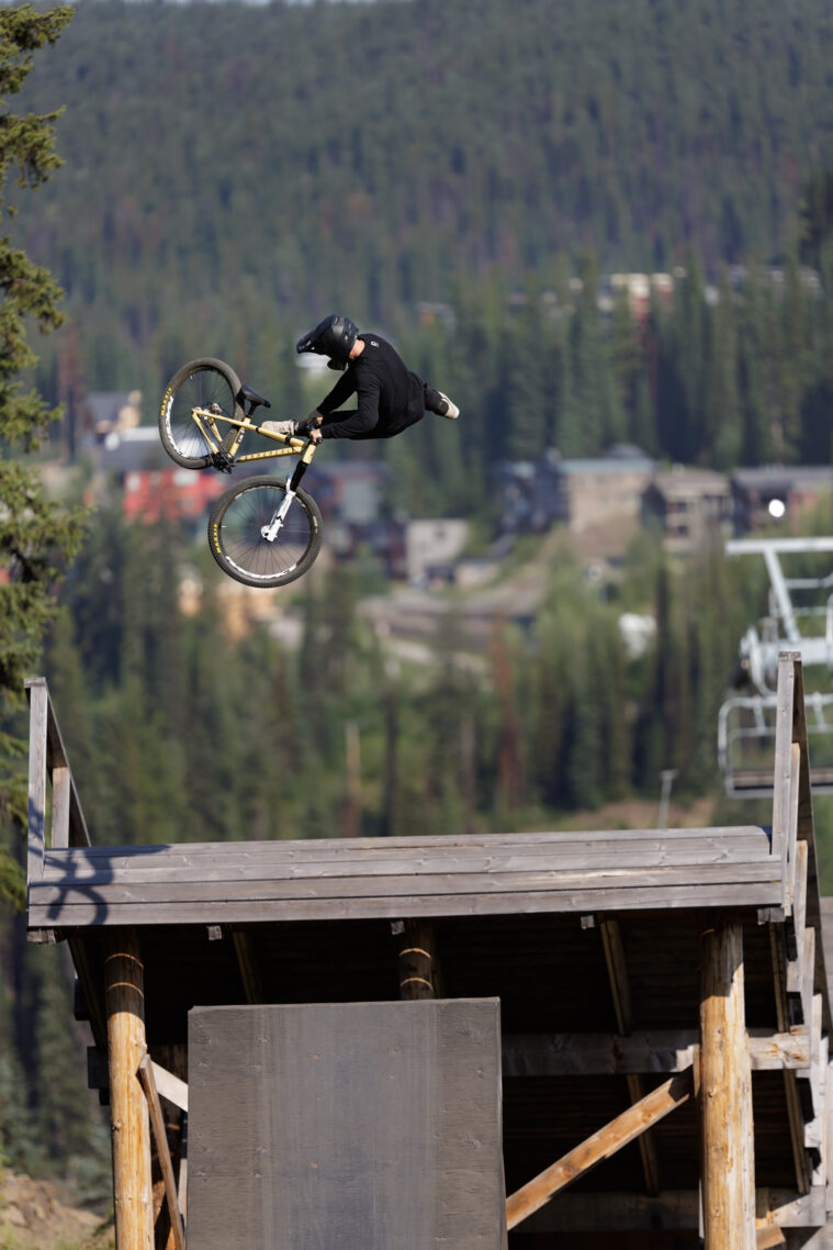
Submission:
<svg viewBox="0 0 833 1250">
<path fill-rule="evenodd" d="M 30 936 L 72 950 L 90 1079 L 120 1126 L 120 1250 L 175 1246 L 189 1222 L 192 1009 L 413 999 L 500 1001 L 510 1250 L 827 1244 L 831 1014 L 796 656 L 766 829 L 91 846 L 42 681 L 30 700 Z"/>
</svg>

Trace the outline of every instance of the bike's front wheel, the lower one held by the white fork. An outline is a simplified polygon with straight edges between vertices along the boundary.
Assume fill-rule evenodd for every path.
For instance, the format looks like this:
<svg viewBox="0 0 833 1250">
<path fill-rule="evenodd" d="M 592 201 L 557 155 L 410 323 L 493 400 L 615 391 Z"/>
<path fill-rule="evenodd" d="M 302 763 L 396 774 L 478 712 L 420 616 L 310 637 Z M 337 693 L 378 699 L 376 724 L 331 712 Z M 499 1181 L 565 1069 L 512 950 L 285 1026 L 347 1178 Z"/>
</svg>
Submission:
<svg viewBox="0 0 833 1250">
<path fill-rule="evenodd" d="M 286 485 L 283 478 L 247 478 L 230 486 L 211 509 L 211 555 L 245 586 L 286 586 L 312 566 L 321 550 L 318 505 L 300 488 L 276 536 L 264 538 L 286 501 Z"/>
</svg>

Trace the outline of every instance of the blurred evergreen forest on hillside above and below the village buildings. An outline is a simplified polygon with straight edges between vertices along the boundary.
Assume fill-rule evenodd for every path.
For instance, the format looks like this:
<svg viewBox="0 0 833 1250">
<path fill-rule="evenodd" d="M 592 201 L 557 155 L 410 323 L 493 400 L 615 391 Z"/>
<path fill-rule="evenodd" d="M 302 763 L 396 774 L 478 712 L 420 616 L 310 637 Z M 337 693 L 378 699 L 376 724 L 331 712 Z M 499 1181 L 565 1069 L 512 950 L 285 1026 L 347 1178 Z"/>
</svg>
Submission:
<svg viewBox="0 0 833 1250">
<path fill-rule="evenodd" d="M 42 396 L 35 432 L 10 421 L 0 388 L 9 464 L 71 459 L 90 391 L 140 389 L 152 425 L 166 380 L 202 355 L 229 360 L 275 415 L 301 415 L 326 384 L 296 368 L 293 342 L 336 310 L 462 410 L 360 449 L 388 461 L 391 509 L 411 515 L 466 516 L 488 536 L 495 468 L 548 448 L 632 442 L 722 470 L 829 462 L 827 0 L 61 11 L 30 45 L 35 72 L 0 72 L 4 108 L 19 91 L 64 160 L 16 186 L 14 131 L 0 130 L 17 208 L 0 205 L 4 230 L 44 266 L 45 291 L 20 310 L 37 361 L 7 358 Z M 6 56 L 0 40 L 0 71 Z M 4 318 L 29 290 L 12 260 L 0 248 Z M 612 279 L 631 272 L 668 281 L 636 308 Z M 70 468 L 80 501 L 82 452 Z M 19 530 L 35 498 L 4 481 Z M 0 1168 L 67 1178 L 79 1200 L 106 1195 L 107 1134 L 82 1088 L 66 960 L 25 942 L 22 672 L 49 678 L 101 844 L 546 829 L 656 801 L 664 769 L 683 801 L 719 791 L 717 709 L 766 605 L 762 570 L 719 546 L 681 564 L 642 534 L 599 585 L 556 535 L 528 629 L 496 626 L 462 666 L 452 610 L 435 662 L 408 665 L 362 616 L 362 569 L 322 568 L 290 592 L 288 646 L 257 625 L 230 635 L 190 531 L 130 525 L 116 501 L 87 511 L 77 550 L 77 510 L 49 514 L 62 545 L 36 515 L 37 560 L 31 526 L 22 539 L 0 518 Z M 192 615 L 186 565 L 204 588 Z M 624 611 L 656 621 L 639 655 Z M 713 819 L 768 814 L 717 799 Z M 817 822 L 832 889 L 821 802 Z"/>
</svg>

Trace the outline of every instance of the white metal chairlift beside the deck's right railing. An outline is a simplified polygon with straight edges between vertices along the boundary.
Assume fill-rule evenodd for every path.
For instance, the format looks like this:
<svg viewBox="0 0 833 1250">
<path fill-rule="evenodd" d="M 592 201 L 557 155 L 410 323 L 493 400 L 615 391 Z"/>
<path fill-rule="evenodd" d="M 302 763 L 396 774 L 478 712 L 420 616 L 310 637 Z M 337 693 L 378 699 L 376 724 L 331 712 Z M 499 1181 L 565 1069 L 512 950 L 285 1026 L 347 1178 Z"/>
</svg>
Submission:
<svg viewBox="0 0 833 1250">
<path fill-rule="evenodd" d="M 778 658 L 798 654 L 807 674 L 807 731 L 821 746 L 833 735 L 833 570 L 818 578 L 788 578 L 782 556 L 829 552 L 833 538 L 736 539 L 726 554 L 761 555 L 769 575 L 769 611 L 741 639 L 733 685 L 718 715 L 718 761 L 726 791 L 734 798 L 769 798 L 773 790 L 772 744 L 776 735 Z M 833 561 L 832 561 L 833 562 Z M 799 601 L 801 600 L 801 601 Z M 824 675 L 819 669 L 824 669 Z M 822 689 L 824 686 L 826 689 Z M 816 689 L 814 689 L 816 688 Z M 833 740 L 832 740 L 833 741 Z M 813 792 L 833 792 L 833 751 L 812 769 Z"/>
</svg>

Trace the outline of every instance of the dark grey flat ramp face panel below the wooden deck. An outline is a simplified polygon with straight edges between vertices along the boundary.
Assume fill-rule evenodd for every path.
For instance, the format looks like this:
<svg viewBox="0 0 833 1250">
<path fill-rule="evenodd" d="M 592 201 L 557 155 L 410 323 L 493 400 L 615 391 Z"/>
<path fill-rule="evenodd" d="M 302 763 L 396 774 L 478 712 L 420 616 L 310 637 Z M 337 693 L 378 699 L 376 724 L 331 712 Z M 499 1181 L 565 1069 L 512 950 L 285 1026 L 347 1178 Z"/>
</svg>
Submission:
<svg viewBox="0 0 833 1250">
<path fill-rule="evenodd" d="M 501 1250 L 497 999 L 195 1008 L 189 1250 Z"/>
</svg>

